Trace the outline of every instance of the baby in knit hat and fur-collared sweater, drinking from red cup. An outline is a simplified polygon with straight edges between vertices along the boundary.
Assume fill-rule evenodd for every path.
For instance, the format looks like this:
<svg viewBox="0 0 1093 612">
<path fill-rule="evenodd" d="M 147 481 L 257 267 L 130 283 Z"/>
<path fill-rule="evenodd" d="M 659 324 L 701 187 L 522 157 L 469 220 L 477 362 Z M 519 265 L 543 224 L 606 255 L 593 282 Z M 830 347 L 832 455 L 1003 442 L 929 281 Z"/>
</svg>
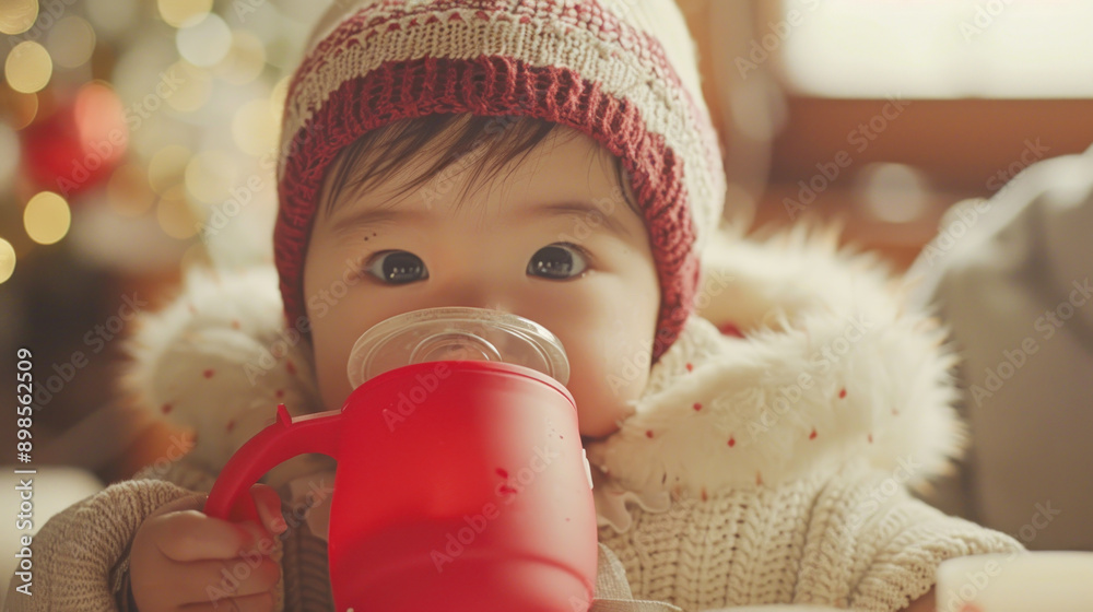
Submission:
<svg viewBox="0 0 1093 612">
<path fill-rule="evenodd" d="M 137 386 L 196 447 L 45 526 L 47 595 L 13 610 L 329 608 L 329 464 L 256 485 L 260 526 L 204 516 L 200 493 L 277 403 L 339 409 L 365 330 L 437 306 L 565 346 L 593 610 L 932 610 L 938 563 L 1020 549 L 904 491 L 960 432 L 940 332 L 882 272 L 808 233 L 715 238 L 725 177 L 670 0 L 336 2 L 282 142 L 279 299 L 265 271 L 193 275 L 141 331 Z"/>
</svg>

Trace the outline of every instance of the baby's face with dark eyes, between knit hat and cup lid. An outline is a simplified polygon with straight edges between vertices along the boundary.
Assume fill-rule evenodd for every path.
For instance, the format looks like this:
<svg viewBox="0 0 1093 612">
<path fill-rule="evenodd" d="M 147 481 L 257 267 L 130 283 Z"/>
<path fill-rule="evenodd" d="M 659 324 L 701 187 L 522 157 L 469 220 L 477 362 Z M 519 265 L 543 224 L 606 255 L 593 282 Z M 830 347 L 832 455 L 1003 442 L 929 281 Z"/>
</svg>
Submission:
<svg viewBox="0 0 1093 612">
<path fill-rule="evenodd" d="M 621 198 L 610 153 L 559 127 L 471 189 L 473 164 L 457 161 L 391 198 L 430 157 L 366 192 L 344 190 L 329 214 L 319 207 L 304 296 L 326 409 L 352 391 L 346 362 L 368 328 L 420 308 L 471 306 L 556 334 L 581 435 L 613 433 L 648 379 L 660 292 L 645 224 Z M 451 176 L 456 168 L 465 169 Z"/>
</svg>

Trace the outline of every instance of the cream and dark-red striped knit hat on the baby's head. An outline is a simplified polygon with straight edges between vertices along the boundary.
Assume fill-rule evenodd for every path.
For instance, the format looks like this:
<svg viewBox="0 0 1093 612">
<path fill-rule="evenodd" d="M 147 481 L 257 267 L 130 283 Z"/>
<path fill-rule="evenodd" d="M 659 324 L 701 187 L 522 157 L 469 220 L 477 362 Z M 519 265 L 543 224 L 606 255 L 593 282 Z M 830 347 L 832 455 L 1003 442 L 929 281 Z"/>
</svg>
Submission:
<svg viewBox="0 0 1093 612">
<path fill-rule="evenodd" d="M 693 42 L 671 0 L 336 0 L 289 84 L 274 258 L 290 325 L 325 170 L 368 130 L 431 114 L 531 116 L 622 160 L 661 302 L 653 360 L 674 342 L 720 220 L 725 175 Z"/>
</svg>

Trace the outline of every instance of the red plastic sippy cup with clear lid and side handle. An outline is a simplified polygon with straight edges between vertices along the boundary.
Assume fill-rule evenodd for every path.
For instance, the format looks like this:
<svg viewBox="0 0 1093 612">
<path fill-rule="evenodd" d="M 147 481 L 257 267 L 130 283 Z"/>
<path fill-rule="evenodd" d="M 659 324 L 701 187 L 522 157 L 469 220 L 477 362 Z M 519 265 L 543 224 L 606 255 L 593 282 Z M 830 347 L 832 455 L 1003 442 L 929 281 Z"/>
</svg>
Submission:
<svg viewBox="0 0 1093 612">
<path fill-rule="evenodd" d="M 596 582 L 591 478 L 559 339 L 480 308 L 367 330 L 341 410 L 277 422 L 228 460 L 205 514 L 304 452 L 338 460 L 329 567 L 338 612 L 583 612 Z"/>
</svg>

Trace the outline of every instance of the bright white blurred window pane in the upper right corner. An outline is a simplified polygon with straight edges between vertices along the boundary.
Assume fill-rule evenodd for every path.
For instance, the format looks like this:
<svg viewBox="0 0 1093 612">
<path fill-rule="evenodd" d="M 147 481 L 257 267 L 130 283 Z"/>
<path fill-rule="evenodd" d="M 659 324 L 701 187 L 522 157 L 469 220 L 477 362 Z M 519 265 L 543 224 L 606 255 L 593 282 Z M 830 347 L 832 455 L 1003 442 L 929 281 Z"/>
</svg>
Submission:
<svg viewBox="0 0 1093 612">
<path fill-rule="evenodd" d="M 1048 98 L 1093 95 L 1093 2 L 781 0 L 729 58 L 748 78 L 785 74 L 826 97 Z"/>
</svg>

